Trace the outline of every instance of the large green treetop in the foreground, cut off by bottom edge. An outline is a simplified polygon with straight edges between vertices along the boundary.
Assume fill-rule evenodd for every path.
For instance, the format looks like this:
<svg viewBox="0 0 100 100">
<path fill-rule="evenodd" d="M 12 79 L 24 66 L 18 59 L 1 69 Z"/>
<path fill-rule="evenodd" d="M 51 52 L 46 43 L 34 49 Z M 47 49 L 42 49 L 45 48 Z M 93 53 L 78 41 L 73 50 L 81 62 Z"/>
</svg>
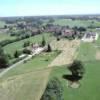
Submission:
<svg viewBox="0 0 100 100">
<path fill-rule="evenodd" d="M 49 81 L 41 100 L 63 100 L 63 87 L 58 78 Z"/>
</svg>

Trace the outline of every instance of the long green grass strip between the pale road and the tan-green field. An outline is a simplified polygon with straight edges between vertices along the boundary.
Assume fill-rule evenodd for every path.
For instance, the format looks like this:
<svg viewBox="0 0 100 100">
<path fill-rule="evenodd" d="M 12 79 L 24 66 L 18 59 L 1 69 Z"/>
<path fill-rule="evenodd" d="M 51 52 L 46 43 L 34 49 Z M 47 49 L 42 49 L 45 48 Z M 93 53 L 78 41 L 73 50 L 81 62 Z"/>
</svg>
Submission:
<svg viewBox="0 0 100 100">
<path fill-rule="evenodd" d="M 35 70 L 47 68 L 47 65 L 59 54 L 59 51 L 52 51 L 50 53 L 41 53 L 26 63 L 22 63 L 19 66 L 16 66 L 14 69 L 11 69 L 7 72 L 2 79 L 11 77 L 14 75 L 29 73 Z"/>
</svg>

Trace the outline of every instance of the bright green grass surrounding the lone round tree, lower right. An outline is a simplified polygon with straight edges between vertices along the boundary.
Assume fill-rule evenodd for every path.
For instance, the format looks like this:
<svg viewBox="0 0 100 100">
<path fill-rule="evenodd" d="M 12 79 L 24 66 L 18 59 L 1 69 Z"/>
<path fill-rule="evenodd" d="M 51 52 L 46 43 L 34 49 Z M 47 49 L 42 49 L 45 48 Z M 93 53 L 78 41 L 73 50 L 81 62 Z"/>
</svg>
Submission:
<svg viewBox="0 0 100 100">
<path fill-rule="evenodd" d="M 57 77 L 63 86 L 64 100 L 99 100 L 100 99 L 100 62 L 94 61 L 84 63 L 85 74 L 80 80 L 81 86 L 78 89 L 72 89 L 67 86 L 67 80 L 62 76 L 69 74 L 66 67 L 54 68 L 50 78 Z"/>
</svg>

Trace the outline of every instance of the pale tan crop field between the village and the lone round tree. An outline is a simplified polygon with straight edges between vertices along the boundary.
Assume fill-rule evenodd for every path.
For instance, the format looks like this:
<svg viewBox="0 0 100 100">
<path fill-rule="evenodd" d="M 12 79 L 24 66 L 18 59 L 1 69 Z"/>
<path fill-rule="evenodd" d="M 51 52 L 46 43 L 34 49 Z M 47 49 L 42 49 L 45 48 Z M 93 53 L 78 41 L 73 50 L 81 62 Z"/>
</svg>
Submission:
<svg viewBox="0 0 100 100">
<path fill-rule="evenodd" d="M 62 39 L 60 41 L 52 41 L 52 49 L 62 50 L 62 53 L 52 62 L 51 66 L 61 66 L 72 63 L 77 55 L 79 45 L 80 40 L 68 41 L 66 39 Z"/>
</svg>

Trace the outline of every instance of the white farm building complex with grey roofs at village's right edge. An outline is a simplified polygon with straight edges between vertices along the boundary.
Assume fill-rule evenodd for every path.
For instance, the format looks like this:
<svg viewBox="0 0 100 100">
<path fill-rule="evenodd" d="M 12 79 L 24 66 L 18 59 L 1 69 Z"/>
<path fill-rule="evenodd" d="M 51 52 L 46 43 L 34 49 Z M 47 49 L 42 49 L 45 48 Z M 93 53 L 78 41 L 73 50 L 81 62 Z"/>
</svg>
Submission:
<svg viewBox="0 0 100 100">
<path fill-rule="evenodd" d="M 82 38 L 82 41 L 84 42 L 93 42 L 98 39 L 98 34 L 95 32 L 87 32 Z"/>
</svg>

